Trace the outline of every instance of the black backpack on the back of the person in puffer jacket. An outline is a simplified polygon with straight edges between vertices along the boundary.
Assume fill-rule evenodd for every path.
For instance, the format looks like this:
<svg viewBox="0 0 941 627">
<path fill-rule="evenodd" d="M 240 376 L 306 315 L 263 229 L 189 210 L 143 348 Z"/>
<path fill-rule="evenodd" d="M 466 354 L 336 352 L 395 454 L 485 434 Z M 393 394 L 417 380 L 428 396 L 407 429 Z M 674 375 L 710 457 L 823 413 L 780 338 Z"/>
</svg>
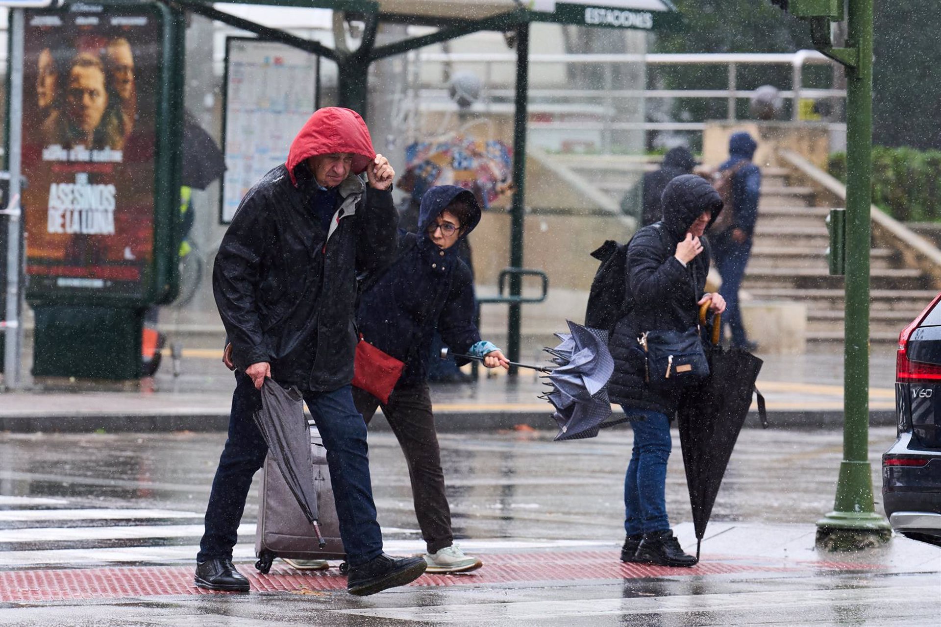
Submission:
<svg viewBox="0 0 941 627">
<path fill-rule="evenodd" d="M 661 240 L 663 227 L 655 222 Z M 628 288 L 628 243 L 608 240 L 592 251 L 591 256 L 601 265 L 591 282 L 588 306 L 585 308 L 585 326 L 591 329 L 614 331 L 614 325 L 634 307 L 634 297 Z"/>
</svg>

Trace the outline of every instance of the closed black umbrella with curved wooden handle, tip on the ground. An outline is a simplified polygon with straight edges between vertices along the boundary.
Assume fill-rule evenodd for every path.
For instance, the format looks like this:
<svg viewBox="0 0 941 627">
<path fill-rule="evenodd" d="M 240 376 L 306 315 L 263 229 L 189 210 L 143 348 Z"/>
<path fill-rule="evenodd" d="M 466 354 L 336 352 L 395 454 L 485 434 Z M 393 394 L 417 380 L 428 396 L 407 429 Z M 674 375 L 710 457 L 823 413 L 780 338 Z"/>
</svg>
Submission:
<svg viewBox="0 0 941 627">
<path fill-rule="evenodd" d="M 700 310 L 699 318 L 703 325 L 708 306 L 706 304 Z M 678 409 L 679 443 L 693 509 L 696 559 L 699 558 L 699 547 L 706 534 L 715 497 L 726 475 L 728 460 L 751 407 L 753 393 L 758 394 L 758 412 L 762 424 L 767 426 L 764 398 L 755 387 L 761 360 L 742 349 L 726 350 L 719 345 L 721 322 L 718 315 L 712 328 L 716 332 L 706 347 L 710 375 L 684 393 Z"/>
</svg>

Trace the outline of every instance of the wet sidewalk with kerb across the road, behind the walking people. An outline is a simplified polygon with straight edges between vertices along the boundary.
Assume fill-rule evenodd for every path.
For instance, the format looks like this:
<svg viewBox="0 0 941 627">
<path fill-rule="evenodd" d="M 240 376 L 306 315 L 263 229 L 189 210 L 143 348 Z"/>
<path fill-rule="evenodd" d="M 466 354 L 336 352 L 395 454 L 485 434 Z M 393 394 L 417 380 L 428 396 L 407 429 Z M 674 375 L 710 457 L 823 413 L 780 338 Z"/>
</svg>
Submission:
<svg viewBox="0 0 941 627">
<path fill-rule="evenodd" d="M 153 379 L 133 386 L 29 381 L 24 391 L 0 394 L 0 431 L 225 431 L 231 373 L 215 349 L 183 351 L 179 376 L 166 352 Z M 838 428 L 842 424 L 843 357 L 834 351 L 760 355 L 758 389 L 772 428 Z M 895 355 L 882 349 L 870 359 L 869 409 L 873 425 L 895 424 Z M 432 398 L 439 431 L 554 429 L 545 386 L 534 373 L 488 378 L 474 384 L 437 384 Z M 753 413 L 755 407 L 753 405 Z M 619 410 L 617 410 L 619 411 Z M 385 421 L 375 429 L 386 429 Z M 757 415 L 746 427 L 759 426 Z"/>
</svg>

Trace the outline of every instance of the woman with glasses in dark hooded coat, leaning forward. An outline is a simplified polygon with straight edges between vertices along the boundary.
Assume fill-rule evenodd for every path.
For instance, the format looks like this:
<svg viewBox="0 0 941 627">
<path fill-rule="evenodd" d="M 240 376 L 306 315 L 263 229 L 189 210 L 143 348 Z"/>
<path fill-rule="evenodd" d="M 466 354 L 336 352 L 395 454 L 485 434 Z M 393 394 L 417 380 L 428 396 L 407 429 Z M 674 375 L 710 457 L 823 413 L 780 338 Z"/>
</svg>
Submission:
<svg viewBox="0 0 941 627">
<path fill-rule="evenodd" d="M 470 191 L 455 185 L 430 188 L 422 198 L 418 233 L 399 231 L 397 259 L 369 281 L 357 313 L 364 339 L 406 364 L 389 402 L 357 387 L 353 400 L 367 424 L 381 406 L 405 452 L 415 514 L 427 545 L 426 572 L 468 572 L 482 566 L 454 543 L 427 383 L 436 328 L 453 353 L 480 357 L 487 368 L 509 368 L 500 349 L 482 341 L 474 325 L 470 268 L 456 254 L 455 244 L 477 226 L 480 213 Z"/>
</svg>

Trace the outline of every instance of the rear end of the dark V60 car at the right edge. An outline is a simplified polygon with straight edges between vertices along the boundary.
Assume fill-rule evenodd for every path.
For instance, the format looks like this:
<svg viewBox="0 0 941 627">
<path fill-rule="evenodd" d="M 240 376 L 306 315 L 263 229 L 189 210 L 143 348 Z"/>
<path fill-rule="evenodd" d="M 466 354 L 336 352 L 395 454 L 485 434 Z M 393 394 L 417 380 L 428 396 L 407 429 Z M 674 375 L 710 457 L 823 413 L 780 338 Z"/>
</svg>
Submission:
<svg viewBox="0 0 941 627">
<path fill-rule="evenodd" d="M 901 535 L 941 546 L 941 294 L 899 335 L 899 437 L 883 454 L 883 504 Z"/>
</svg>

